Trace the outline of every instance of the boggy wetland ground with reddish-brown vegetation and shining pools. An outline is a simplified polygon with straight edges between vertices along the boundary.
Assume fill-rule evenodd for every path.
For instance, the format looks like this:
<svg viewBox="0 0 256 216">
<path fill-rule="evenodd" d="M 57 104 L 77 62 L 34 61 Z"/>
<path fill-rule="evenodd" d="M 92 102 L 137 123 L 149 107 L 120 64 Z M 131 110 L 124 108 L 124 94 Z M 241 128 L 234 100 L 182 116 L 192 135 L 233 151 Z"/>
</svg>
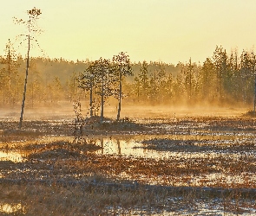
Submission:
<svg viewBox="0 0 256 216">
<path fill-rule="evenodd" d="M 255 119 L 239 109 L 203 115 L 154 108 L 148 117 L 137 110 L 121 122 L 91 121 L 76 143 L 70 113 L 28 116 L 23 130 L 7 113 L 1 118 L 0 212 L 256 213 Z"/>
</svg>

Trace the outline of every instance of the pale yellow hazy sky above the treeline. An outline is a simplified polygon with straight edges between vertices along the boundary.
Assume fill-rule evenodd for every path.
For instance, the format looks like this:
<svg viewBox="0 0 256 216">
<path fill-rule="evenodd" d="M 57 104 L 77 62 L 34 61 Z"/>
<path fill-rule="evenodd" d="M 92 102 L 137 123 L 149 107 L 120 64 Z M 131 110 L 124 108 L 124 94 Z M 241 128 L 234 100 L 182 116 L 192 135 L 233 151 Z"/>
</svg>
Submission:
<svg viewBox="0 0 256 216">
<path fill-rule="evenodd" d="M 50 58 L 97 60 L 124 51 L 132 61 L 203 62 L 216 45 L 241 52 L 256 41 L 255 0 L 9 0 L 0 7 L 0 54 L 9 38 L 25 33 L 13 16 L 27 19 L 33 7 L 42 10 L 36 39 Z"/>
</svg>

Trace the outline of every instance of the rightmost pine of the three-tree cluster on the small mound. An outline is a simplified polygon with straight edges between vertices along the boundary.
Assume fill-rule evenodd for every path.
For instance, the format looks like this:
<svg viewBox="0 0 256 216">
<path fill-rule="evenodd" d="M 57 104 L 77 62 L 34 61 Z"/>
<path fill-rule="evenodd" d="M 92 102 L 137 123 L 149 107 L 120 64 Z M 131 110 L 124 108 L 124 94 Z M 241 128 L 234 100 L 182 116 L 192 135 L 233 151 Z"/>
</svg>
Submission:
<svg viewBox="0 0 256 216">
<path fill-rule="evenodd" d="M 119 121 L 120 113 L 121 113 L 121 98 L 123 95 L 122 92 L 122 80 L 124 77 L 132 76 L 133 70 L 130 63 L 130 59 L 128 54 L 121 52 L 113 57 L 113 63 L 116 68 L 116 78 L 118 82 L 118 92 L 117 92 L 117 99 L 118 99 L 118 110 L 117 110 L 117 117 L 116 120 Z"/>
</svg>

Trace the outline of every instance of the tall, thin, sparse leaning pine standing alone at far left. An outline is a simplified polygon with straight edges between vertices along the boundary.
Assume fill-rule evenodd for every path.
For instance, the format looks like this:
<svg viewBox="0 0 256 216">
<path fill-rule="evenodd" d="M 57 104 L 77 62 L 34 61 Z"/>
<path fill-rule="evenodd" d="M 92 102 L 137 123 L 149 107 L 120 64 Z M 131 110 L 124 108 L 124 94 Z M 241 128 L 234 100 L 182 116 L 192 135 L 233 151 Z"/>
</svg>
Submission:
<svg viewBox="0 0 256 216">
<path fill-rule="evenodd" d="M 28 42 L 28 50 L 27 50 L 27 63 L 26 63 L 26 76 L 24 81 L 24 91 L 23 91 L 23 103 L 22 103 L 22 110 L 21 110 L 21 117 L 19 122 L 19 129 L 22 128 L 23 124 L 23 112 L 24 112 L 24 106 L 25 106 L 25 99 L 26 99 L 26 91 L 27 91 L 27 83 L 28 83 L 28 75 L 29 75 L 29 67 L 30 67 L 30 42 L 34 39 L 34 34 L 40 34 L 41 29 L 38 29 L 37 27 L 37 20 L 39 19 L 39 16 L 42 14 L 40 9 L 36 9 L 35 7 L 32 10 L 27 10 L 27 13 L 29 15 L 29 19 L 24 21 L 23 19 L 17 19 L 15 18 L 16 23 L 23 24 L 27 28 L 27 35 L 26 41 Z"/>
</svg>

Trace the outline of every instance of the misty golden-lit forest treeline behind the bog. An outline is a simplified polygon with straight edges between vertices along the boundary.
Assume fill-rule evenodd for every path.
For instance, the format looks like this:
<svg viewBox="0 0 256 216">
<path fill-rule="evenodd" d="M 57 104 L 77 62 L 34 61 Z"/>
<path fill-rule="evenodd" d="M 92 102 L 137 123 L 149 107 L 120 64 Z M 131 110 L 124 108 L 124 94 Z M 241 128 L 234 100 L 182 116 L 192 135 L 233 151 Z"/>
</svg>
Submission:
<svg viewBox="0 0 256 216">
<path fill-rule="evenodd" d="M 108 61 L 105 73 L 113 67 L 112 60 Z M 0 106 L 19 107 L 26 60 L 9 48 L 0 56 L 0 62 Z M 75 98 L 89 101 L 90 93 L 95 105 L 100 104 L 98 89 L 90 92 L 89 87 L 81 85 L 82 76 L 86 79 L 84 75 L 94 64 L 90 60 L 30 58 L 26 107 L 56 105 Z M 233 50 L 227 54 L 221 46 L 216 46 L 212 57 L 202 63 L 191 59 L 176 66 L 133 62 L 130 63 L 133 74 L 121 77 L 121 97 L 126 103 L 141 105 L 249 105 L 254 98 L 255 64 L 253 51 L 243 50 L 238 54 Z M 115 86 L 118 88 L 117 79 L 112 79 L 112 85 L 113 90 Z M 116 94 L 109 96 L 114 98 Z"/>
</svg>

